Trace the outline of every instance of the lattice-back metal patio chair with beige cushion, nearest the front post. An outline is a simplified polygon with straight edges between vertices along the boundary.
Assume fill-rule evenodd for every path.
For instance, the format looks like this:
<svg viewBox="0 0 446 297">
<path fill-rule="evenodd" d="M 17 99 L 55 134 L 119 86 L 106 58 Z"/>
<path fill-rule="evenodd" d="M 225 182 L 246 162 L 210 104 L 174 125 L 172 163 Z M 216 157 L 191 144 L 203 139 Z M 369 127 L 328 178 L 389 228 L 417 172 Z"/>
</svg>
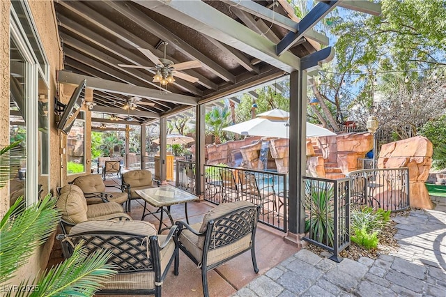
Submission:
<svg viewBox="0 0 446 297">
<path fill-rule="evenodd" d="M 223 203 L 210 210 L 203 222 L 176 222 L 176 242 L 180 250 L 201 269 L 203 294 L 208 293 L 208 271 L 240 254 L 251 251 L 252 265 L 259 273 L 254 248 L 260 206 L 249 201 Z"/>
</svg>

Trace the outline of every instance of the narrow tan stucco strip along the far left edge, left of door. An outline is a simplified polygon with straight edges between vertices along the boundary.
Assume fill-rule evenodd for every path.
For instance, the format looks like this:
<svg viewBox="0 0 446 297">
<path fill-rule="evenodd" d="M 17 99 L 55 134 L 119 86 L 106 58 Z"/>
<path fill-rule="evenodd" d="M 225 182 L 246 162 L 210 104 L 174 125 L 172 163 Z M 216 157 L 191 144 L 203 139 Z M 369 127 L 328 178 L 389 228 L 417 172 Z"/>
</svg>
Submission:
<svg viewBox="0 0 446 297">
<path fill-rule="evenodd" d="M 9 61 L 10 1 L 0 1 L 0 61 Z M 9 63 L 0 63 L 0 127 L 9 127 Z M 9 129 L 0 129 L 0 147 L 8 145 Z M 0 218 L 9 206 L 9 187 L 0 188 Z"/>
</svg>

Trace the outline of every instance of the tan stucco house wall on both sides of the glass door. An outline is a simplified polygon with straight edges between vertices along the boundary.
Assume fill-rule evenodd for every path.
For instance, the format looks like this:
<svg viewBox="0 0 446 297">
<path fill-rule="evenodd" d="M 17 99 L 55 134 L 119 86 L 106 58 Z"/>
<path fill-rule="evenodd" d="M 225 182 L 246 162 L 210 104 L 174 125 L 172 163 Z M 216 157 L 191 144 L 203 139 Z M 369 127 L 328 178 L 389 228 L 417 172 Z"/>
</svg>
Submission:
<svg viewBox="0 0 446 297">
<path fill-rule="evenodd" d="M 1 7 L 1 61 L 9 61 L 9 15 L 10 2 L 0 1 Z M 56 130 L 54 122 L 54 96 L 57 92 L 56 70 L 61 69 L 62 55 L 61 47 L 59 46 L 59 36 L 57 33 L 56 17 L 54 13 L 54 3 L 50 0 L 45 1 L 29 1 L 29 7 L 33 20 L 36 24 L 38 35 L 42 41 L 45 54 L 49 62 L 49 127 L 50 127 L 50 188 L 55 192 L 56 186 L 60 185 L 60 160 L 59 160 L 59 132 Z M 1 98 L 9 98 L 9 63 L 1 63 Z M 1 100 L 0 102 L 0 144 L 3 145 L 9 141 L 9 99 Z M 1 195 L 1 215 L 4 215 L 5 208 L 9 204 L 8 189 L 0 189 Z M 45 195 L 46 193 L 44 193 Z M 43 271 L 46 268 L 49 253 L 52 250 L 54 243 L 54 235 L 50 236 L 47 243 L 42 245 L 35 254 L 29 259 L 29 263 L 25 267 L 17 271 L 16 277 L 11 280 L 12 284 L 19 284 L 21 280 L 32 279 L 38 271 Z"/>
</svg>

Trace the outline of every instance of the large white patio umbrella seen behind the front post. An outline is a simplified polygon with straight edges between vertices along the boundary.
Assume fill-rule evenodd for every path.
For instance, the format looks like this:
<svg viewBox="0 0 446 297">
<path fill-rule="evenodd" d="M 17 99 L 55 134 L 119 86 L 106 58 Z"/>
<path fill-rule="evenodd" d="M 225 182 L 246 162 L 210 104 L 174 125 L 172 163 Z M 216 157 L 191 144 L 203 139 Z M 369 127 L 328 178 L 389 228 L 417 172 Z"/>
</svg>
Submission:
<svg viewBox="0 0 446 297">
<path fill-rule="evenodd" d="M 289 138 L 289 112 L 272 109 L 259 114 L 256 119 L 224 128 L 224 131 L 240 135 Z M 336 135 L 328 129 L 307 122 L 307 137 Z"/>
</svg>

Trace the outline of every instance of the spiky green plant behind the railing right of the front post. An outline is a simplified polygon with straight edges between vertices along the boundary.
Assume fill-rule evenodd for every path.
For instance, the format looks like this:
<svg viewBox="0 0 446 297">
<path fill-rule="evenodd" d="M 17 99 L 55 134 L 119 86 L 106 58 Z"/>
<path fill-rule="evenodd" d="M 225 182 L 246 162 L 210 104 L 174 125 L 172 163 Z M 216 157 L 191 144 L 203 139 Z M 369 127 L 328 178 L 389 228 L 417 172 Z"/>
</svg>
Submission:
<svg viewBox="0 0 446 297">
<path fill-rule="evenodd" d="M 305 232 L 318 243 L 333 247 L 334 190 L 331 183 L 308 180 L 305 183 Z"/>
</svg>

